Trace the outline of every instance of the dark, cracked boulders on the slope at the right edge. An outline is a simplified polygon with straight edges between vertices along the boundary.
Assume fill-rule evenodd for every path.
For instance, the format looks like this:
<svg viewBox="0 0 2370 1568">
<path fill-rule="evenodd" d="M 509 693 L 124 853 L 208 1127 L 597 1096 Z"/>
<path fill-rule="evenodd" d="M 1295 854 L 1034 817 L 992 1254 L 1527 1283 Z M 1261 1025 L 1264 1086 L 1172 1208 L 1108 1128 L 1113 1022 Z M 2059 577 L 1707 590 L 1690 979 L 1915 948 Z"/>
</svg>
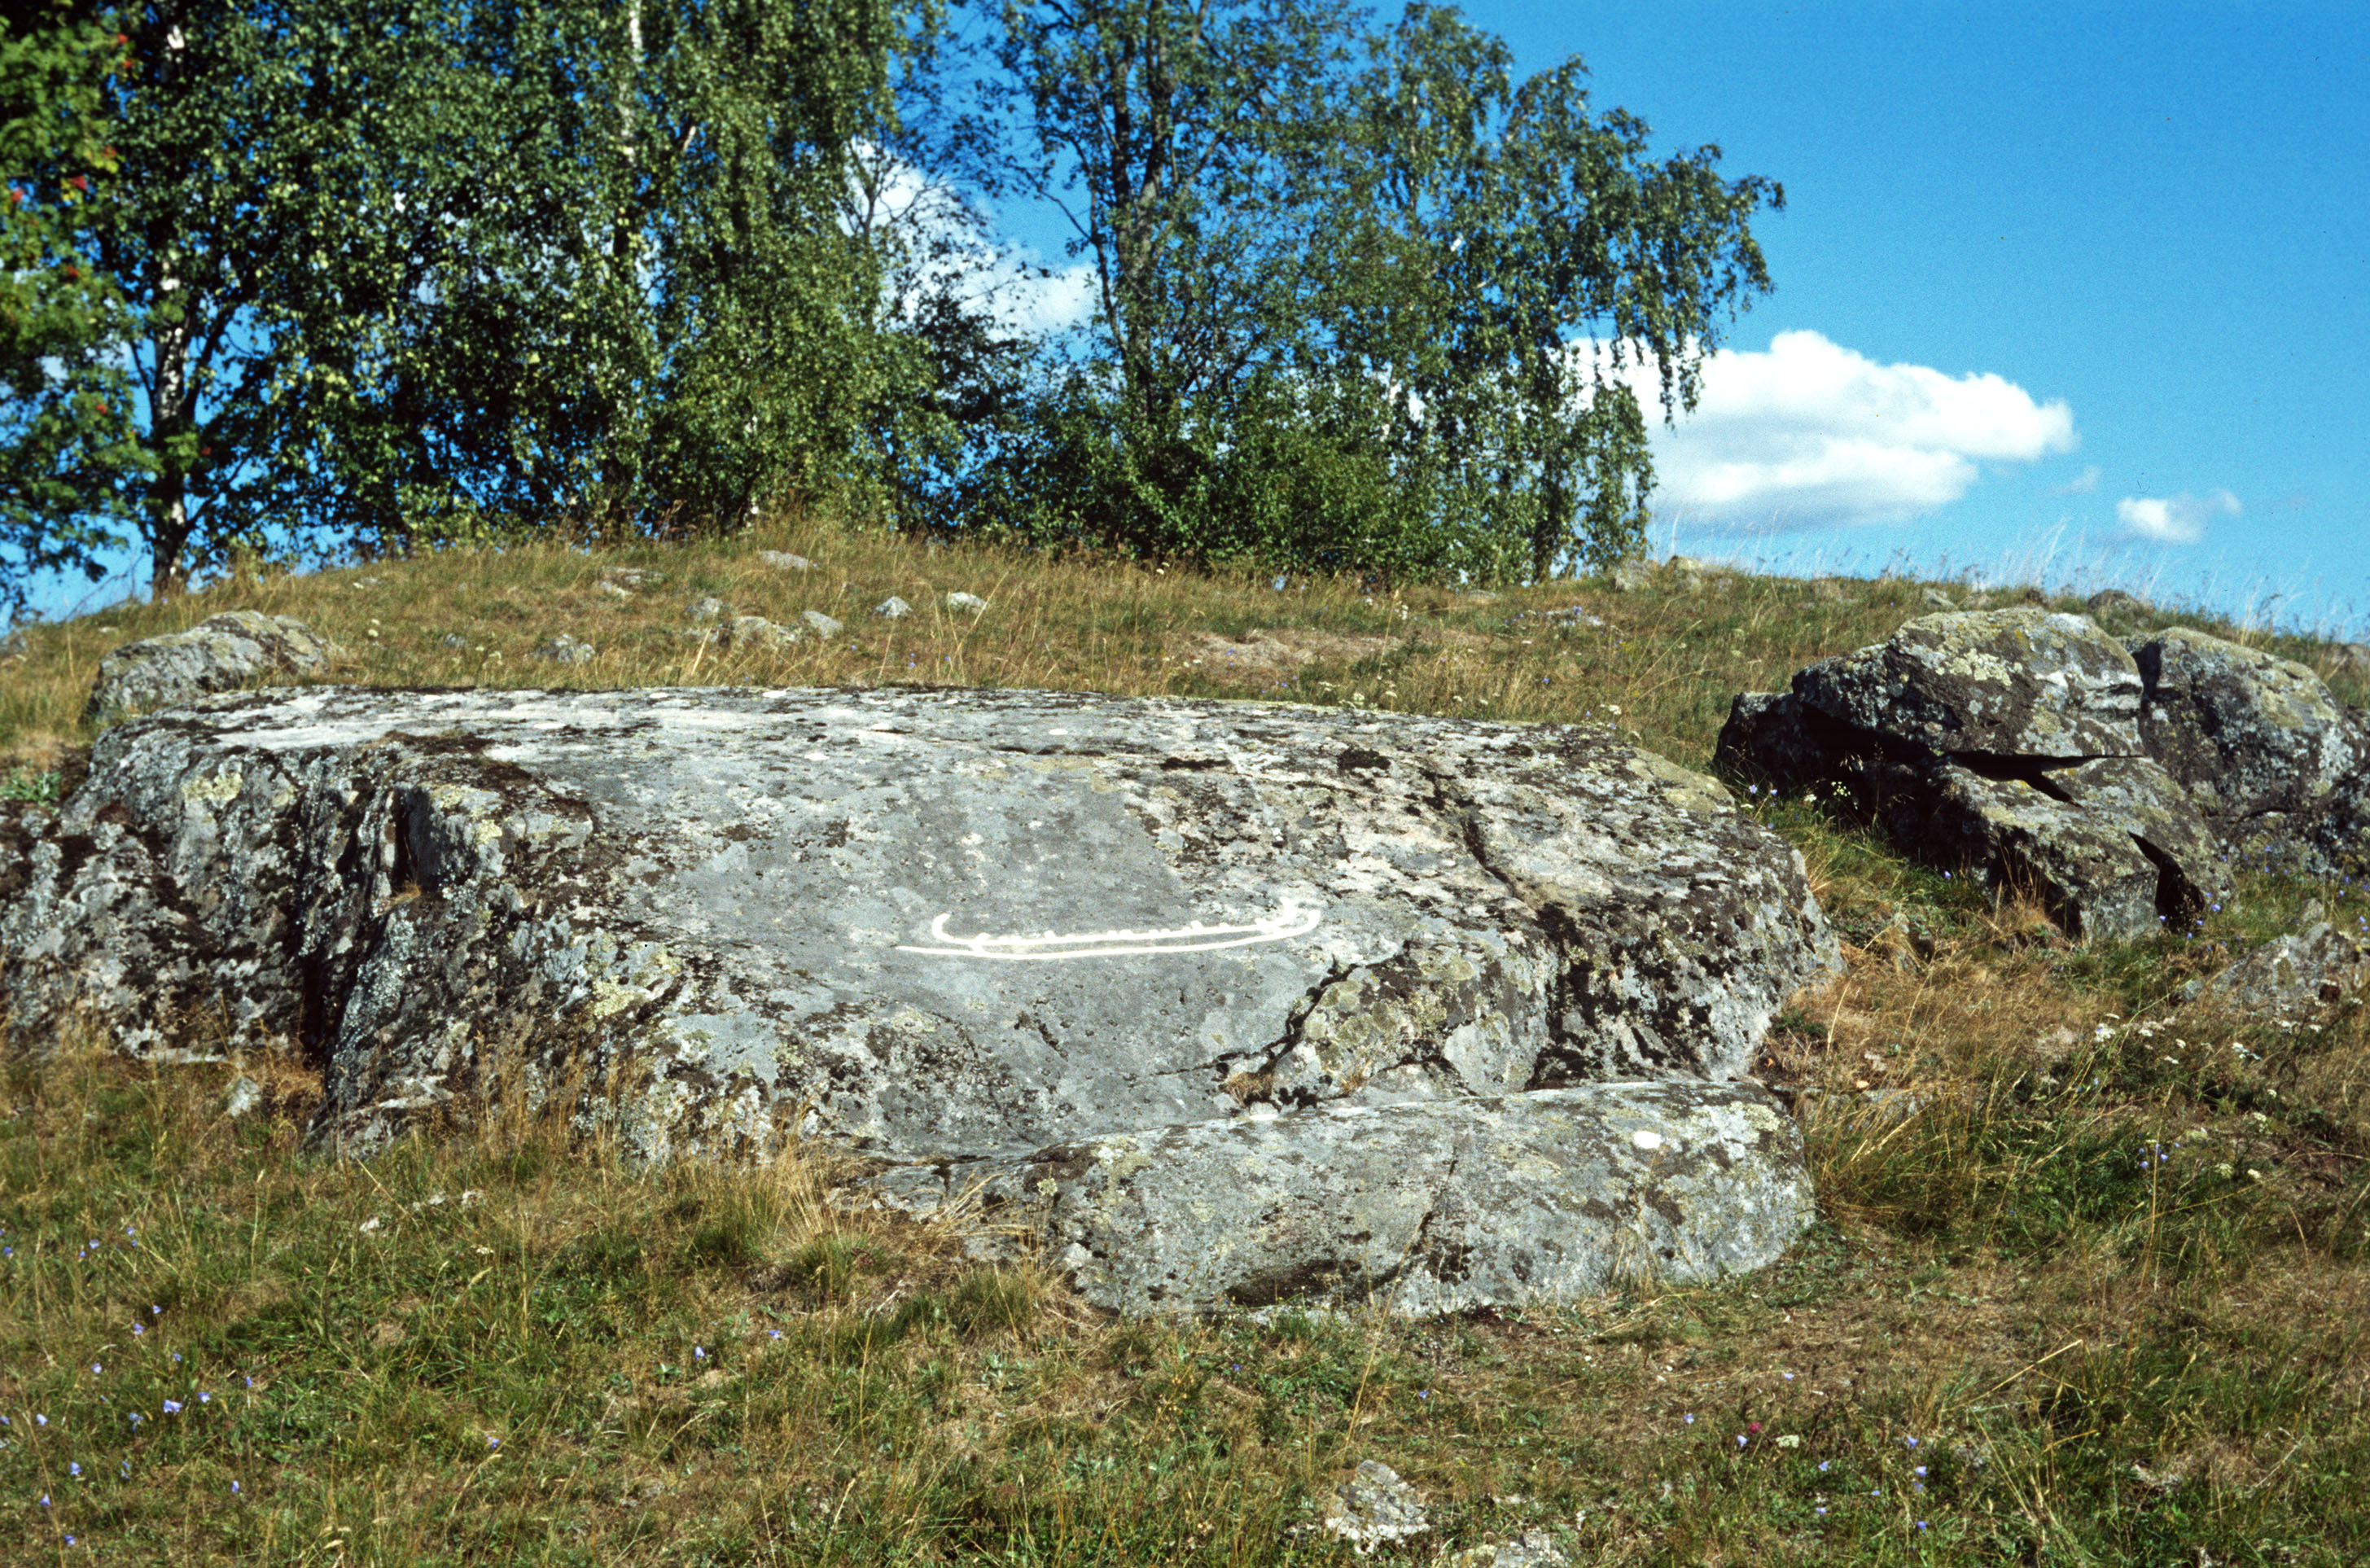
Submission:
<svg viewBox="0 0 2370 1568">
<path fill-rule="evenodd" d="M 2083 938 L 2192 928 L 2237 860 L 2370 865 L 2370 718 L 2285 658 L 2048 609 L 1924 616 L 1744 692 L 1718 760 L 1827 791 Z"/>
</svg>

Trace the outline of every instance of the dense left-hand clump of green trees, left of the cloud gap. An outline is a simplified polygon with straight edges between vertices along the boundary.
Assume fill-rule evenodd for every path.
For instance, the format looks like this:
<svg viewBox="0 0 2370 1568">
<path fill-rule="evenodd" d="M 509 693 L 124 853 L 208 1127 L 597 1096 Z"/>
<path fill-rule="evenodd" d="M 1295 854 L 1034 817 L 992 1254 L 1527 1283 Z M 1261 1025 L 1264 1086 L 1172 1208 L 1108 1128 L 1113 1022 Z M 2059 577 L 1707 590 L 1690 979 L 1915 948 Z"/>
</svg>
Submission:
<svg viewBox="0 0 2370 1568">
<path fill-rule="evenodd" d="M 9 429 L 52 431 L 0 452 L 31 497 L 0 514 L 12 583 L 95 564 L 109 521 L 171 592 L 239 550 L 739 523 L 882 467 L 889 393 L 924 372 L 837 213 L 917 31 L 896 0 L 118 24 L 126 66 L 47 95 L 47 152 L 12 142 L 45 296 L 64 256 L 104 279 L 71 351 L 12 360 Z M 73 185 L 59 135 L 109 147 L 109 178 Z M 69 448 L 92 407 L 114 424 L 81 415 Z"/>
</svg>

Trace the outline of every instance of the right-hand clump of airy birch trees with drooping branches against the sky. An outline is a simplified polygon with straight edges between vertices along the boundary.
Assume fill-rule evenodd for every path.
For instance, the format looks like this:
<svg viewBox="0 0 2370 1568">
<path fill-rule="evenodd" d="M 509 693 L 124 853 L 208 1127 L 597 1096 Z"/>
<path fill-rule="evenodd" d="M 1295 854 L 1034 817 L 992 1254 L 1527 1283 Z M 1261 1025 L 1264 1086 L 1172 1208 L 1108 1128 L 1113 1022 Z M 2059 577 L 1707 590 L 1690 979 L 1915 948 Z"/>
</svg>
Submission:
<svg viewBox="0 0 2370 1568">
<path fill-rule="evenodd" d="M 1441 7 L 1010 0 L 993 52 L 1029 126 L 993 173 L 1100 287 L 1045 441 L 984 476 L 1024 531 L 1481 578 L 1642 542 L 1623 372 L 1692 407 L 1775 185 L 1654 161 L 1581 62 L 1514 83 Z"/>
</svg>

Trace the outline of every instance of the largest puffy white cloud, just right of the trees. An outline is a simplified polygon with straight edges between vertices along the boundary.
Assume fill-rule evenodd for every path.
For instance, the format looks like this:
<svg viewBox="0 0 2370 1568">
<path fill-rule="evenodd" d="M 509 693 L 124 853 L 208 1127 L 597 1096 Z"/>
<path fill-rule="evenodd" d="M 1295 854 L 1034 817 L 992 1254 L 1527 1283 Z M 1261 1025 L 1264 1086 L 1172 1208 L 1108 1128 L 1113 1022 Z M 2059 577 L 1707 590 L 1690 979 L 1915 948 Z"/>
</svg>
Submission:
<svg viewBox="0 0 2370 1568">
<path fill-rule="evenodd" d="M 1657 415 L 1652 372 L 1631 367 Z M 1818 332 L 1704 360 L 1678 426 L 1654 419 L 1657 507 L 1730 528 L 1891 523 L 1951 505 L 1979 462 L 2074 450 L 2074 412 L 1996 374 L 1877 365 Z"/>
</svg>

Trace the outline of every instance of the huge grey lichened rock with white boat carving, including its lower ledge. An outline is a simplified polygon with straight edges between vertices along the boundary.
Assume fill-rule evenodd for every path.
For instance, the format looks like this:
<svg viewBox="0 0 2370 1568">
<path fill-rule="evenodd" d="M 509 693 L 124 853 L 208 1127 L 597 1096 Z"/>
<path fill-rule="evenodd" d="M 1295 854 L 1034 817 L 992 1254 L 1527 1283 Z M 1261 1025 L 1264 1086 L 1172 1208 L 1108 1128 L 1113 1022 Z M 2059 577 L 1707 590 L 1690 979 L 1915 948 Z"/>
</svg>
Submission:
<svg viewBox="0 0 2370 1568">
<path fill-rule="evenodd" d="M 1732 1078 L 1832 952 L 1794 850 L 1576 727 L 318 687 L 0 817 L 19 1042 L 280 1042 L 353 1153 L 498 1092 L 640 1158 L 827 1137 L 1138 1310 L 1775 1255 L 1801 1146 Z"/>
</svg>

